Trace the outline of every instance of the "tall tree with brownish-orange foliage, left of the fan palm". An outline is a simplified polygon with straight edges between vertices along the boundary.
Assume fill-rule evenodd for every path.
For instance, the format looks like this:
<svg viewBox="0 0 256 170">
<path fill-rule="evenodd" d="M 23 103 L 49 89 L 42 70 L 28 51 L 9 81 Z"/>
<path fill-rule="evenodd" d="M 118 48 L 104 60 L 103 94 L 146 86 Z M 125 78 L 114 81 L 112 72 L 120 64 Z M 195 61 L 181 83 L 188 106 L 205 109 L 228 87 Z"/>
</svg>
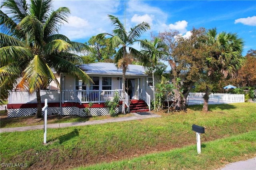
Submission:
<svg viewBox="0 0 256 170">
<path fill-rule="evenodd" d="M 171 67 L 172 82 L 175 86 L 175 109 L 186 109 L 186 98 L 205 68 L 208 46 L 206 30 L 193 28 L 189 37 L 183 37 L 178 31 L 165 31 L 159 37 L 168 46 L 167 60 Z"/>
</svg>

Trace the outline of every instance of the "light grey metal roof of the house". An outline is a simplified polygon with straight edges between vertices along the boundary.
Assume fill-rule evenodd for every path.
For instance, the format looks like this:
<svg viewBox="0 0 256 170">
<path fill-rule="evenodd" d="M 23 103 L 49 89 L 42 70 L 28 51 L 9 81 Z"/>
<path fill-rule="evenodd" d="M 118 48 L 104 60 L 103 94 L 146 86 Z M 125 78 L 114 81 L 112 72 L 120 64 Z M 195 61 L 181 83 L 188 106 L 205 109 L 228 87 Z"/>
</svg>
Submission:
<svg viewBox="0 0 256 170">
<path fill-rule="evenodd" d="M 117 68 L 114 63 L 90 63 L 79 66 L 87 74 L 113 74 L 122 75 L 122 68 Z M 143 66 L 129 64 L 126 75 L 147 76 Z"/>
</svg>

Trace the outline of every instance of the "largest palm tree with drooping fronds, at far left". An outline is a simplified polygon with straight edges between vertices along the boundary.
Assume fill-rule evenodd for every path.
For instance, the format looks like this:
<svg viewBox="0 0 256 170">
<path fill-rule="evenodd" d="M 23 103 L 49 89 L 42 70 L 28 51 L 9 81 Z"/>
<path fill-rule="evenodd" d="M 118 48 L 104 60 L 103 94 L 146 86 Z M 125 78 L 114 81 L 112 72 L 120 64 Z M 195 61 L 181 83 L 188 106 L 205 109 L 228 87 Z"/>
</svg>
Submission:
<svg viewBox="0 0 256 170">
<path fill-rule="evenodd" d="M 30 93 L 36 91 L 38 104 L 36 117 L 41 117 L 40 89 L 46 88 L 52 80 L 56 80 L 60 87 L 52 69 L 57 73 L 71 73 L 84 82 L 92 81 L 86 73 L 73 64 L 81 60 L 74 52 L 89 50 L 89 47 L 83 43 L 72 42 L 66 36 L 58 34 L 61 24 L 67 22 L 70 10 L 60 7 L 54 11 L 52 0 L 31 0 L 29 5 L 26 0 L 6 0 L 2 7 L 6 8 L 6 13 L 1 10 L 3 34 L 0 41 L 4 42 L 4 46 L 1 45 L 3 66 L 0 68 L 0 74 L 5 75 L 1 80 L 1 86 L 2 82 L 10 78 L 8 75 L 14 74 L 13 70 L 5 71 L 4 68 L 10 66 L 12 61 L 16 68 L 19 68 L 20 56 L 27 56 L 23 64 L 25 68 L 16 73 L 16 77 L 22 76 L 16 88 L 24 89 L 27 86 Z M 19 47 L 26 50 L 17 50 Z M 14 52 L 8 53 L 5 48 L 13 49 Z M 2 58 L 6 59 L 3 63 Z M 10 88 L 10 85 L 8 87 Z"/>
</svg>

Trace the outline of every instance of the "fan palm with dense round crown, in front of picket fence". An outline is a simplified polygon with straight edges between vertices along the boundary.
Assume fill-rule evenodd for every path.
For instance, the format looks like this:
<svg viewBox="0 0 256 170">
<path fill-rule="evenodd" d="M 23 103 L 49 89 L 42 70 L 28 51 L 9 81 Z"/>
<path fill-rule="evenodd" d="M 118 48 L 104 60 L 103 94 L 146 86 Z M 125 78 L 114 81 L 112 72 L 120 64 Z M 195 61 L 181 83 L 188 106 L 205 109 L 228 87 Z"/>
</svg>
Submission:
<svg viewBox="0 0 256 170">
<path fill-rule="evenodd" d="M 206 59 L 208 82 L 216 83 L 220 78 L 234 77 L 243 66 L 242 50 L 244 41 L 236 33 L 217 33 L 216 28 L 209 29 L 208 43 L 212 47 Z M 206 85 L 203 111 L 208 111 L 210 87 Z"/>
</svg>

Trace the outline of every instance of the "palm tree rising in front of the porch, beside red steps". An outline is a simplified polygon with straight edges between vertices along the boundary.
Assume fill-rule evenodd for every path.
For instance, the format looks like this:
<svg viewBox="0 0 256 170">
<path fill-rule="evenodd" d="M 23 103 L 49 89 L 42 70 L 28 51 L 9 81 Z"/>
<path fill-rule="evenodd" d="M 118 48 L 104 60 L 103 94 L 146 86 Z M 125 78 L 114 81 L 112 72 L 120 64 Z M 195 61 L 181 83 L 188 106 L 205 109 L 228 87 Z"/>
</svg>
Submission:
<svg viewBox="0 0 256 170">
<path fill-rule="evenodd" d="M 112 22 L 112 25 L 115 26 L 113 30 L 113 34 L 111 33 L 100 33 L 95 36 L 95 39 L 103 39 L 105 36 L 110 36 L 108 38 L 108 42 L 112 48 L 120 47 L 115 54 L 114 61 L 118 68 L 122 68 L 122 114 L 126 114 L 125 112 L 125 73 L 128 69 L 128 64 L 130 58 L 127 57 L 127 49 L 129 48 L 129 53 L 134 57 L 139 57 L 141 54 L 138 50 L 130 47 L 136 41 L 139 41 L 138 38 L 141 36 L 143 32 L 150 29 L 150 26 L 146 22 L 139 23 L 135 27 L 131 28 L 129 32 L 126 32 L 124 25 L 120 22 L 120 20 L 112 15 L 108 15 L 108 18 Z"/>
</svg>

